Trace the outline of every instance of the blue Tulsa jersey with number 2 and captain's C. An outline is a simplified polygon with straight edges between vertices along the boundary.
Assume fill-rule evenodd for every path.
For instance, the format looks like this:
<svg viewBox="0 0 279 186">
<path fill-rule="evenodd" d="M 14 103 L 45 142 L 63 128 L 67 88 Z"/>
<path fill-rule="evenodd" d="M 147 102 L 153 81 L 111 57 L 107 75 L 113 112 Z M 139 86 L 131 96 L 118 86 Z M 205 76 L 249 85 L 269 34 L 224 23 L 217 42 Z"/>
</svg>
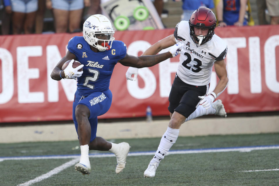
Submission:
<svg viewBox="0 0 279 186">
<path fill-rule="evenodd" d="M 83 74 L 77 78 L 77 91 L 88 96 L 108 90 L 112 71 L 117 61 L 126 56 L 127 47 L 122 41 L 113 41 L 109 50 L 94 52 L 83 37 L 75 36 L 69 41 L 68 50 L 84 65 Z"/>
</svg>

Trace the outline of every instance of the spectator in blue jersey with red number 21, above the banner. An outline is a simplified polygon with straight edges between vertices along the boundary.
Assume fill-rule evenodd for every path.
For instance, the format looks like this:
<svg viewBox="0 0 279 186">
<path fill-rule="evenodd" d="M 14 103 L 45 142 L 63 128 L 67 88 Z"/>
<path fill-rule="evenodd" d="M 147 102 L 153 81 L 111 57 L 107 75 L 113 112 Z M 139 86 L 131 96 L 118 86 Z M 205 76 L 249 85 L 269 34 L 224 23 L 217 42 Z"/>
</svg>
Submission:
<svg viewBox="0 0 279 186">
<path fill-rule="evenodd" d="M 248 0 L 235 0 L 233 2 L 217 0 L 215 3 L 216 13 L 221 27 L 225 27 L 227 25 L 248 25 L 248 18 L 245 17 Z M 251 19 L 251 16 L 249 19 Z M 252 22 L 250 25 L 254 25 L 254 22 Z"/>
</svg>

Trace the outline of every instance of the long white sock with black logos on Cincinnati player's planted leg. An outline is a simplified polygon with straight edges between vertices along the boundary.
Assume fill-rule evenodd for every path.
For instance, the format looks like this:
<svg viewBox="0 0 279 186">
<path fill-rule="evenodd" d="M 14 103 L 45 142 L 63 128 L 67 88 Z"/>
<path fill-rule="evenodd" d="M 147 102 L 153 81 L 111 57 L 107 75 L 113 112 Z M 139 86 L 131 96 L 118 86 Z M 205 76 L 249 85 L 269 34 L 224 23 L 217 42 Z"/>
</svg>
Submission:
<svg viewBox="0 0 279 186">
<path fill-rule="evenodd" d="M 171 146 L 176 142 L 179 134 L 179 129 L 174 128 L 167 128 L 167 131 L 162 136 L 161 142 L 158 146 L 158 149 L 155 153 L 155 156 L 150 161 L 151 162 L 157 162 L 158 164 L 162 159 L 164 159 L 164 156 L 169 151 Z"/>
</svg>

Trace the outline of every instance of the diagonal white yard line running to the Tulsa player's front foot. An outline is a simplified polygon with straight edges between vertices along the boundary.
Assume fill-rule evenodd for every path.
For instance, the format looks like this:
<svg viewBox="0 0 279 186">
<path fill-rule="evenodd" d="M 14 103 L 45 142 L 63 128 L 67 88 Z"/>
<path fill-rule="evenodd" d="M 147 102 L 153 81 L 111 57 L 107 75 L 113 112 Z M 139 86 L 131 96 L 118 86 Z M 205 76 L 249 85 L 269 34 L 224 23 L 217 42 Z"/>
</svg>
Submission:
<svg viewBox="0 0 279 186">
<path fill-rule="evenodd" d="M 52 169 L 51 171 L 49 171 L 46 174 L 43 174 L 42 176 L 39 176 L 39 177 L 37 177 L 37 178 L 35 178 L 33 180 L 29 180 L 28 182 L 22 183 L 22 184 L 17 185 L 17 186 L 28 186 L 28 185 L 31 185 L 33 183 L 40 182 L 40 181 L 42 181 L 44 179 L 47 179 L 47 178 L 51 177 L 54 174 L 59 173 L 60 171 L 62 171 L 64 169 L 67 169 L 68 167 L 71 167 L 72 165 L 76 164 L 78 161 L 79 161 L 79 158 L 71 160 L 71 161 L 69 161 L 67 163 L 64 163 L 64 164 L 60 165 L 59 167 L 56 167 L 55 169 Z"/>
</svg>

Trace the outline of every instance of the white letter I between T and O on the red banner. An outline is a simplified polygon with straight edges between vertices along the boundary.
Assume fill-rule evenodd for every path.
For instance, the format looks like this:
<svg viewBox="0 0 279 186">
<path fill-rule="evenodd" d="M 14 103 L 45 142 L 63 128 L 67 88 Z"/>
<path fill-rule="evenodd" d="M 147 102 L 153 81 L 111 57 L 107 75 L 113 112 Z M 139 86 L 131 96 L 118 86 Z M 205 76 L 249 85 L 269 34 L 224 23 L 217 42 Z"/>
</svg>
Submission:
<svg viewBox="0 0 279 186">
<path fill-rule="evenodd" d="M 249 68 L 251 93 L 262 92 L 260 38 L 249 37 Z"/>
</svg>

